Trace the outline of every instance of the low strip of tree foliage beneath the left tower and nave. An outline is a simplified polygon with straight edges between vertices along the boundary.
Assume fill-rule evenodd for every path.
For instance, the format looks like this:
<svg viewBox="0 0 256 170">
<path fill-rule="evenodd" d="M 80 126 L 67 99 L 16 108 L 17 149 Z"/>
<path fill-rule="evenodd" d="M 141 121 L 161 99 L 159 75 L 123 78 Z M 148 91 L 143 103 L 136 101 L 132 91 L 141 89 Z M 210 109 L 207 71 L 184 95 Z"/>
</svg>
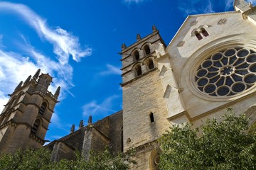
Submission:
<svg viewBox="0 0 256 170">
<path fill-rule="evenodd" d="M 18 150 L 13 154 L 1 154 L 1 170 L 30 170 L 30 169 L 61 169 L 61 170 L 127 170 L 129 163 L 134 162 L 130 156 L 131 150 L 126 154 L 119 153 L 116 156 L 110 154 L 109 149 L 101 153 L 91 153 L 89 160 L 85 160 L 79 152 L 75 160 L 62 159 L 60 162 L 50 161 L 50 151 L 46 148 Z"/>
</svg>

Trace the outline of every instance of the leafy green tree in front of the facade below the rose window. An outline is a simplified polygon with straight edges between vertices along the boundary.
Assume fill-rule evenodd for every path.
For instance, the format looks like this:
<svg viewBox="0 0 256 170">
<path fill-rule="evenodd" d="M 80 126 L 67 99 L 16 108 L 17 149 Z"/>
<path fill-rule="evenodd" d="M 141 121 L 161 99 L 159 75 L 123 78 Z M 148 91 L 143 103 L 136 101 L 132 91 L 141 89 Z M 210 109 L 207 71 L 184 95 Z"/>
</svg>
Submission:
<svg viewBox="0 0 256 170">
<path fill-rule="evenodd" d="M 228 109 L 220 121 L 207 120 L 201 128 L 174 125 L 159 140 L 160 169 L 256 169 L 255 132 L 248 119 Z"/>
</svg>

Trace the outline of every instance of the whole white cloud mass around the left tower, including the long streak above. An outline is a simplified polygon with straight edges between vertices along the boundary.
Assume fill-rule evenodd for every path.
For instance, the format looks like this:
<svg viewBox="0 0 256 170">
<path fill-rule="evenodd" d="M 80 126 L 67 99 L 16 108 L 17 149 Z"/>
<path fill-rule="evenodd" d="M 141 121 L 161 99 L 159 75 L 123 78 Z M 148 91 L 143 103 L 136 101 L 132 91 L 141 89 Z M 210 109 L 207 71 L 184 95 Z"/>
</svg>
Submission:
<svg viewBox="0 0 256 170">
<path fill-rule="evenodd" d="M 19 81 L 25 81 L 29 75 L 33 76 L 38 68 L 54 78 L 49 91 L 54 93 L 57 86 L 61 86 L 59 99 L 65 98 L 66 93 L 70 93 L 69 89 L 73 86 L 73 67 L 69 64 L 70 56 L 79 62 L 82 57 L 91 55 L 92 49 L 82 47 L 78 37 L 67 30 L 48 26 L 46 19 L 23 4 L 0 1 L 0 13 L 23 18 L 22 21 L 31 26 L 43 42 L 52 45 L 50 55 L 55 56 L 53 58 L 44 55 L 41 49 L 30 44 L 29 35 L 22 33 L 19 35 L 20 41 L 16 40 L 16 49 L 13 50 L 12 47 L 5 46 L 5 36 L 0 33 L 0 111 L 9 99 L 7 94 L 14 91 Z"/>
</svg>

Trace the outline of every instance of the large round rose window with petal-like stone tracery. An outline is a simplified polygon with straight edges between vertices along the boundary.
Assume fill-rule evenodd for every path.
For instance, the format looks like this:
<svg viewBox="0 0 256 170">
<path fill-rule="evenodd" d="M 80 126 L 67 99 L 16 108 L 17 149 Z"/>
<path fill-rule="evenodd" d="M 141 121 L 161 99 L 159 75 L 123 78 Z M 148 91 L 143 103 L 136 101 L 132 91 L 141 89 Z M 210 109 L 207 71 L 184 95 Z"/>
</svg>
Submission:
<svg viewBox="0 0 256 170">
<path fill-rule="evenodd" d="M 233 96 L 256 82 L 256 52 L 234 47 L 216 52 L 196 71 L 196 86 L 210 96 Z"/>
</svg>

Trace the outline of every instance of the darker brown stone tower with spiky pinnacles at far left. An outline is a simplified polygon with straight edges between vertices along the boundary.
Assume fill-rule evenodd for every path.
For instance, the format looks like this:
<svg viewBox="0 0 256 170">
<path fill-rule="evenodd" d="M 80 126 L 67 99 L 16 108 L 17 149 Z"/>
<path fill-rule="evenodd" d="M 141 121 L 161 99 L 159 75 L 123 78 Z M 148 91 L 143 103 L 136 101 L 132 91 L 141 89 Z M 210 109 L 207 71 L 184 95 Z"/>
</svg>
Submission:
<svg viewBox="0 0 256 170">
<path fill-rule="evenodd" d="M 60 94 L 48 91 L 52 81 L 40 69 L 26 81 L 21 81 L 0 115 L 0 152 L 14 152 L 26 147 L 38 148 L 44 142 L 46 131 Z"/>
</svg>

